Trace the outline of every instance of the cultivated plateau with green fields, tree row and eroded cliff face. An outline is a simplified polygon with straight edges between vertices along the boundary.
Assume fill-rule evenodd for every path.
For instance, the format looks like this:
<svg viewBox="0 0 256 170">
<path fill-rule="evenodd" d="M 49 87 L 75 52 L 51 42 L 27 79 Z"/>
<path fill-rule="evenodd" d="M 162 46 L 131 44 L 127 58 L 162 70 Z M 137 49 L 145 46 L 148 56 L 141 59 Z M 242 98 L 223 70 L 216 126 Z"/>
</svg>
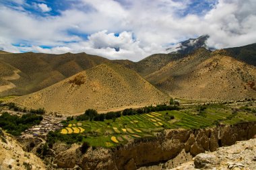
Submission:
<svg viewBox="0 0 256 170">
<path fill-rule="evenodd" d="M 194 104 L 156 105 L 104 114 L 86 110 L 79 116 L 61 117 L 49 112 L 43 115 L 43 126 L 47 128 L 49 121 L 62 120 L 63 127 L 48 131 L 46 136 L 36 131 L 32 135 L 24 133 L 18 141 L 25 151 L 40 157 L 46 169 L 161 169 L 173 168 L 204 151 L 216 151 L 219 146 L 256 135 L 255 101 Z M 26 114 L 12 114 L 15 113 Z M 139 159 L 141 152 L 149 153 Z M 67 161 L 70 157 L 72 161 Z"/>
</svg>

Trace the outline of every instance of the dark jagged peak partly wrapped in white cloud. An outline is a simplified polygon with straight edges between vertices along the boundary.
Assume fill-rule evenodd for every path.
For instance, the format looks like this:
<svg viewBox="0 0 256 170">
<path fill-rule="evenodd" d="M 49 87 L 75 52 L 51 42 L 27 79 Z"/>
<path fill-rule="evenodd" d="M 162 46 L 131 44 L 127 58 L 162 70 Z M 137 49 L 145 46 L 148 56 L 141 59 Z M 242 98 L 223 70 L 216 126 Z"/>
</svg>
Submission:
<svg viewBox="0 0 256 170">
<path fill-rule="evenodd" d="M 198 38 L 190 38 L 176 44 L 172 48 L 167 48 L 166 51 L 170 54 L 189 54 L 200 47 L 208 48 L 206 45 L 207 39 L 210 38 L 208 35 L 199 36 Z"/>
</svg>

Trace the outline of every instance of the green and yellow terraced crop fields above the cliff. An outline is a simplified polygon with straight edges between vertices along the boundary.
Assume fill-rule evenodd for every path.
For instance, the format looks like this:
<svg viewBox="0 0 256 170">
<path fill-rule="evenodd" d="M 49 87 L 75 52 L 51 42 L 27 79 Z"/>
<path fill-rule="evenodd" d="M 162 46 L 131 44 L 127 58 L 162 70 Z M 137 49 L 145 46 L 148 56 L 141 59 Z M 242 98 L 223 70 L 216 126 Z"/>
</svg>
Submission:
<svg viewBox="0 0 256 170">
<path fill-rule="evenodd" d="M 85 136 L 83 141 L 91 146 L 113 147 L 133 138 L 155 136 L 166 128 L 198 129 L 247 121 L 256 121 L 255 113 L 246 110 L 234 112 L 226 105 L 209 105 L 203 111 L 194 106 L 183 110 L 121 116 L 104 122 L 71 120 L 61 134 L 82 134 Z"/>
</svg>

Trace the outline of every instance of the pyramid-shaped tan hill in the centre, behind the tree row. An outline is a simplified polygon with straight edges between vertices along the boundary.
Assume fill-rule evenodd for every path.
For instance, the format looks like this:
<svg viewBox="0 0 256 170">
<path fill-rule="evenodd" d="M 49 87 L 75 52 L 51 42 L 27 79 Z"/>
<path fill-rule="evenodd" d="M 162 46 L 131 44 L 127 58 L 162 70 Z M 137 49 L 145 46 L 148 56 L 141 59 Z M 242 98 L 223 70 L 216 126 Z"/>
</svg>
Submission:
<svg viewBox="0 0 256 170">
<path fill-rule="evenodd" d="M 28 108 L 81 113 L 88 108 L 108 110 L 162 103 L 168 97 L 134 71 L 121 65 L 102 64 L 13 101 Z"/>
</svg>

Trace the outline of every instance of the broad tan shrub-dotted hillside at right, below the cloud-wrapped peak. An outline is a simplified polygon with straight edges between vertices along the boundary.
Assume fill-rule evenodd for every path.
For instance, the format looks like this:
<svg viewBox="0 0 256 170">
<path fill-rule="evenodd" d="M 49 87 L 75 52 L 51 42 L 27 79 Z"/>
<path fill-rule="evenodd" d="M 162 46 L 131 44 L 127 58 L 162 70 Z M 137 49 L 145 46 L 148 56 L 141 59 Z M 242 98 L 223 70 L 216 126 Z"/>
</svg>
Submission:
<svg viewBox="0 0 256 170">
<path fill-rule="evenodd" d="M 225 50 L 199 48 L 146 79 L 174 97 L 199 100 L 255 98 L 256 68 Z"/>
</svg>

